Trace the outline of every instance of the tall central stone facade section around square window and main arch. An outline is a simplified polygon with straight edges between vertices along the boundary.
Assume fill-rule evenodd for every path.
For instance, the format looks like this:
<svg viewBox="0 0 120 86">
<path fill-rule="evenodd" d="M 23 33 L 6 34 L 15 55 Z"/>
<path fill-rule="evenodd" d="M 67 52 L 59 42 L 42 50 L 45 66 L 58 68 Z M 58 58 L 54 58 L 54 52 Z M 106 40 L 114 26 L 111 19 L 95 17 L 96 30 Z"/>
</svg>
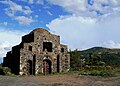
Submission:
<svg viewBox="0 0 120 86">
<path fill-rule="evenodd" d="M 57 35 L 53 35 L 48 31 L 36 31 L 34 32 L 35 35 L 35 46 L 36 49 L 39 51 L 40 54 L 36 54 L 36 70 L 43 73 L 43 60 L 49 59 L 52 62 L 52 72 L 56 72 L 56 64 L 57 64 L 57 55 L 60 54 L 60 37 Z M 52 52 L 43 49 L 43 43 L 50 42 L 52 44 Z M 38 53 L 38 52 L 36 52 Z"/>
</svg>

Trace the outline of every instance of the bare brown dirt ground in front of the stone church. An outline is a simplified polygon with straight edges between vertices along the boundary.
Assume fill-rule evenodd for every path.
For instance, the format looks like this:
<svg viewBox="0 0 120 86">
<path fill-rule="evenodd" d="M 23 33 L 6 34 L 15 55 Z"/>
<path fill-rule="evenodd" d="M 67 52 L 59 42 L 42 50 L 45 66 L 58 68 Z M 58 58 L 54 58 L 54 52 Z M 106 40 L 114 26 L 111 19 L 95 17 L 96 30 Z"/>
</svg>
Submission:
<svg viewBox="0 0 120 86">
<path fill-rule="evenodd" d="M 73 74 L 0 76 L 0 86 L 120 86 L 120 75 L 109 78 Z"/>
</svg>

